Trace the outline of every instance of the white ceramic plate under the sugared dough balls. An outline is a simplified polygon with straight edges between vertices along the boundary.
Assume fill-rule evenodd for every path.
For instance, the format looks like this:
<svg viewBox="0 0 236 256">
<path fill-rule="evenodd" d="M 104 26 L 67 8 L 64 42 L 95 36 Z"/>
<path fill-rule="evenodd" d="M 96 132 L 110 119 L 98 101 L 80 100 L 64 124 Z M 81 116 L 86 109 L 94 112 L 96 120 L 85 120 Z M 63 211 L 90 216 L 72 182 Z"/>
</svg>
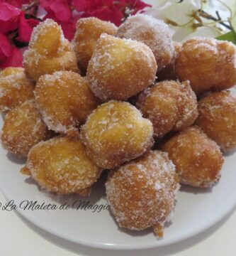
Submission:
<svg viewBox="0 0 236 256">
<path fill-rule="evenodd" d="M 2 119 L 0 120 L 0 127 Z M 19 172 L 23 161 L 0 147 L 0 188 L 8 200 L 16 206 L 21 201 L 63 203 L 90 201 L 106 205 L 104 178 L 96 184 L 89 198 L 80 196 L 55 196 L 40 188 L 31 178 Z M 225 157 L 222 178 L 211 190 L 184 187 L 179 192 L 174 218 L 165 229 L 164 238 L 157 240 L 152 230 L 132 232 L 118 228 L 108 210 L 93 213 L 92 210 L 22 210 L 18 212 L 40 228 L 66 240 L 90 247 L 110 249 L 139 249 L 169 245 L 190 238 L 217 223 L 236 206 L 236 153 Z"/>
</svg>

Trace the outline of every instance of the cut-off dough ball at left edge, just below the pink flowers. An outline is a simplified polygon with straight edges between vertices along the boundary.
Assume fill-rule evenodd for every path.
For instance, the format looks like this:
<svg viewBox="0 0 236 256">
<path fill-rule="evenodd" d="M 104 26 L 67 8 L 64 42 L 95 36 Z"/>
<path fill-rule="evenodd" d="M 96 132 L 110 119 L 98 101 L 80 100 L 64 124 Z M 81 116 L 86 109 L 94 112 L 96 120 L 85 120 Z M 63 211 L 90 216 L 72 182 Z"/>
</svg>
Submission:
<svg viewBox="0 0 236 256">
<path fill-rule="evenodd" d="M 0 112 L 8 112 L 26 100 L 33 99 L 33 82 L 23 68 L 5 68 L 0 71 Z"/>
</svg>

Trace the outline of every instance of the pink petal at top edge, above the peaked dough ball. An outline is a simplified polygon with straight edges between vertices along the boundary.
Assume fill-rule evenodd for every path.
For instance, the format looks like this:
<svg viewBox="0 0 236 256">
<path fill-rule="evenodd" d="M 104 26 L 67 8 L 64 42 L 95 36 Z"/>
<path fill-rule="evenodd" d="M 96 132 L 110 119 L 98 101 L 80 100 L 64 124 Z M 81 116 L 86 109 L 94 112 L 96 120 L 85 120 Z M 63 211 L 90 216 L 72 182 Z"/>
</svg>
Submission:
<svg viewBox="0 0 236 256">
<path fill-rule="evenodd" d="M 45 18 L 60 22 L 69 22 L 72 18 L 72 11 L 67 0 L 40 0 L 40 4 L 47 11 Z"/>
</svg>

